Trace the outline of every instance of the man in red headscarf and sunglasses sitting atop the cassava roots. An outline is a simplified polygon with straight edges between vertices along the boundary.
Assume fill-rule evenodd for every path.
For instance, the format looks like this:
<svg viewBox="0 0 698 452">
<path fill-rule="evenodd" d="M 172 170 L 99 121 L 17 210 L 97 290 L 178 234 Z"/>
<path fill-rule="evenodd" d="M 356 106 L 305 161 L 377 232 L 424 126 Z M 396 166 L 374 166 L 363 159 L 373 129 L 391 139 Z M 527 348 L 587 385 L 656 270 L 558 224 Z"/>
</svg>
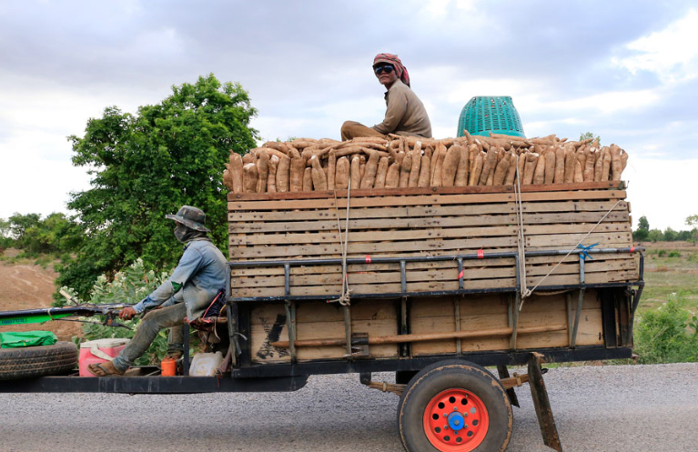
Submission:
<svg viewBox="0 0 698 452">
<path fill-rule="evenodd" d="M 388 91 L 385 102 L 388 109 L 385 119 L 376 126 L 367 127 L 356 121 L 342 125 L 342 140 L 358 136 L 380 136 L 388 134 L 431 137 L 431 123 L 420 98 L 410 88 L 410 75 L 398 55 L 379 54 L 373 59 L 373 72 L 381 85 Z"/>
</svg>

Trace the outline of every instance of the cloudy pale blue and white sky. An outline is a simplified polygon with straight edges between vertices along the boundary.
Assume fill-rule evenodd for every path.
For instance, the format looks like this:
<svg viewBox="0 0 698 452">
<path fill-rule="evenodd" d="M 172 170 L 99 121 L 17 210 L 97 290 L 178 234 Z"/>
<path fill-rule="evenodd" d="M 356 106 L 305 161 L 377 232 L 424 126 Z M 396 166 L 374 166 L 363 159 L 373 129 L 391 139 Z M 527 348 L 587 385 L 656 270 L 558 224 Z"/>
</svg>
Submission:
<svg viewBox="0 0 698 452">
<path fill-rule="evenodd" d="M 698 2 L 0 1 L 0 218 L 68 212 L 89 188 L 67 136 L 173 85 L 238 82 L 262 141 L 379 123 L 374 55 L 400 55 L 437 138 L 475 95 L 511 95 L 526 136 L 591 131 L 629 156 L 633 224 L 698 215 Z"/>
</svg>

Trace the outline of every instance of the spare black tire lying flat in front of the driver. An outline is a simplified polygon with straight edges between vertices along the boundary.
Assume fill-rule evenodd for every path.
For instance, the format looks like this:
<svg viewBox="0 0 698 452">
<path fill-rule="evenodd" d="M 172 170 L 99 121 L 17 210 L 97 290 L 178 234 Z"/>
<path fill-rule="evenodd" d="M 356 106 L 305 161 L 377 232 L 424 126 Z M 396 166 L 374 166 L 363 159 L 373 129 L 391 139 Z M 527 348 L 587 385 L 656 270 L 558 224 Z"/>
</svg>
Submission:
<svg viewBox="0 0 698 452">
<path fill-rule="evenodd" d="M 0 380 L 64 374 L 77 367 L 77 357 L 78 350 L 72 342 L 0 348 Z"/>
</svg>

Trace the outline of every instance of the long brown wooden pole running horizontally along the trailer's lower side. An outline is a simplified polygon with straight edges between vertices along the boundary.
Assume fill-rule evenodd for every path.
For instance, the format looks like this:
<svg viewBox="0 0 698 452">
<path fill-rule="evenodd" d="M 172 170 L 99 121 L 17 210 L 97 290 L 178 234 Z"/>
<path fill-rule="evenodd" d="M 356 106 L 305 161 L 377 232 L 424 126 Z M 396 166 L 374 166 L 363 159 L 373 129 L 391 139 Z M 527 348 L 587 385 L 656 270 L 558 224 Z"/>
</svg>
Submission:
<svg viewBox="0 0 698 452">
<path fill-rule="evenodd" d="M 549 333 L 551 331 L 564 331 L 567 325 L 551 325 L 551 326 L 529 326 L 519 328 L 519 334 L 536 334 Z M 509 336 L 513 331 L 512 328 L 497 328 L 483 329 L 480 331 L 451 331 L 450 333 L 430 333 L 423 335 L 397 335 L 397 336 L 376 336 L 369 337 L 369 345 L 378 344 L 400 344 L 400 342 L 428 342 L 432 340 L 444 340 L 455 338 L 471 338 L 471 337 L 493 337 L 493 336 Z M 342 337 L 339 339 L 303 339 L 297 340 L 293 344 L 295 347 L 338 347 L 346 345 L 347 339 Z M 269 344 L 272 347 L 290 347 L 289 341 L 278 341 Z"/>
</svg>

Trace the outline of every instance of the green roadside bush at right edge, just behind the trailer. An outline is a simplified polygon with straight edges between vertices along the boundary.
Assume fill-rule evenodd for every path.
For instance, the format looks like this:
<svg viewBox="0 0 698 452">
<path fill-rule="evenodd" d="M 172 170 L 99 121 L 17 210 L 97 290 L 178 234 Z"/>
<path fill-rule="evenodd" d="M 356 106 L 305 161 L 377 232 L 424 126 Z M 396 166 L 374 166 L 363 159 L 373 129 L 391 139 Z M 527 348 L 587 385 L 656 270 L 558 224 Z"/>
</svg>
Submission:
<svg viewBox="0 0 698 452">
<path fill-rule="evenodd" d="M 635 328 L 635 351 L 642 364 L 698 361 L 698 317 L 682 293 L 646 311 Z"/>
</svg>

